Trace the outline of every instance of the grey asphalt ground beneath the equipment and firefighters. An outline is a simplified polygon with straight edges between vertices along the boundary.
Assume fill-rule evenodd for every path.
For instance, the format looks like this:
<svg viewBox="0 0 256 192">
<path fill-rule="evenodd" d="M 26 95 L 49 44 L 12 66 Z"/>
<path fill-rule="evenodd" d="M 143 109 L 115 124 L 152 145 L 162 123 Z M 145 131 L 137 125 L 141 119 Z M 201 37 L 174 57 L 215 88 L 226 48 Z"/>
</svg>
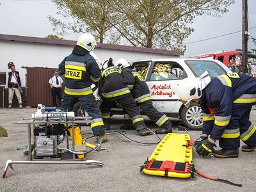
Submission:
<svg viewBox="0 0 256 192">
<path fill-rule="evenodd" d="M 4 169 L 7 159 L 28 160 L 22 156 L 22 150 L 17 150 L 17 147 L 27 145 L 27 126 L 15 123 L 30 117 L 35 111 L 30 108 L 0 109 L 0 125 L 8 131 L 7 138 L 0 138 L 0 170 Z M 251 119 L 255 118 L 256 111 L 252 111 Z M 122 123 L 122 116 L 113 116 L 111 131 L 117 131 Z M 149 120 L 146 123 L 148 127 L 156 128 Z M 88 127 L 82 129 L 83 132 L 90 132 Z M 188 133 L 192 139 L 200 136 L 200 131 Z M 134 140 L 156 141 L 154 136 L 140 137 L 136 131 L 125 131 L 125 134 Z M 243 184 L 242 188 L 238 188 L 202 177 L 196 177 L 196 180 L 174 179 L 140 173 L 141 164 L 156 146 L 131 143 L 116 134 L 108 135 L 108 138 L 109 141 L 102 146 L 107 147 L 107 150 L 87 156 L 88 159 L 102 161 L 102 168 L 83 164 L 14 164 L 14 170 L 8 170 L 6 179 L 0 179 L 0 191 L 256 191 L 255 151 L 240 151 L 236 159 L 203 159 L 193 153 L 197 170 L 212 177 Z"/>
</svg>

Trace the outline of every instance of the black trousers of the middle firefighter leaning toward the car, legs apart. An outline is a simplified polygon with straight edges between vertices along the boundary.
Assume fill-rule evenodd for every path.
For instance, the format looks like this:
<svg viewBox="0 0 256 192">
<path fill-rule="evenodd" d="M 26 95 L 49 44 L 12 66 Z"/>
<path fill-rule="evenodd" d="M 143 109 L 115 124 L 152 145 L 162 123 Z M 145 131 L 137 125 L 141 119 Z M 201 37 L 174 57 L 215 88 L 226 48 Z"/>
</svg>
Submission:
<svg viewBox="0 0 256 192">
<path fill-rule="evenodd" d="M 142 116 L 140 115 L 140 111 L 138 110 L 134 99 L 132 98 L 131 93 L 127 94 L 127 96 L 125 97 L 118 98 L 115 101 L 103 99 L 103 102 L 100 106 L 100 110 L 102 112 L 102 118 L 104 121 L 110 120 L 110 111 L 111 108 L 115 105 L 116 101 L 123 107 L 124 111 L 126 111 L 126 113 L 130 116 L 132 124 L 134 124 L 134 127 L 137 130 L 145 129 L 146 125 L 144 123 Z"/>
</svg>

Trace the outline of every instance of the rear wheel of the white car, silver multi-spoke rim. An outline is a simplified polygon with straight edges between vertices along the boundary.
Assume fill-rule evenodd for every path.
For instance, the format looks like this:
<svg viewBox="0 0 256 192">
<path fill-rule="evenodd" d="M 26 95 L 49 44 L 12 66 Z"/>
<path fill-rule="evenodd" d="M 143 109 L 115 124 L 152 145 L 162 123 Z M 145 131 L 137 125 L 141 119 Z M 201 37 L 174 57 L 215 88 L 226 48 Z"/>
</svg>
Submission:
<svg viewBox="0 0 256 192">
<path fill-rule="evenodd" d="M 181 119 L 185 127 L 188 129 L 200 131 L 203 127 L 203 115 L 200 105 L 191 102 L 189 108 L 184 107 L 180 113 Z"/>
</svg>

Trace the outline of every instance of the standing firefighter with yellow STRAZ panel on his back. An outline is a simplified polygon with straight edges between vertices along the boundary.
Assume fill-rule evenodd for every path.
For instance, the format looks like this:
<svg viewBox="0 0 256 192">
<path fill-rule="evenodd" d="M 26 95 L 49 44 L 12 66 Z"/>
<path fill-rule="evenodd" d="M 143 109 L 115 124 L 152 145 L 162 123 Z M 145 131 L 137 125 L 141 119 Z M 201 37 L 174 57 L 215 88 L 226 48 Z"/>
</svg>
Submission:
<svg viewBox="0 0 256 192">
<path fill-rule="evenodd" d="M 61 109 L 72 110 L 74 102 L 79 100 L 92 116 L 92 131 L 94 136 L 100 136 L 102 142 L 108 138 L 104 132 L 104 124 L 99 106 L 93 96 L 91 85 L 100 79 L 100 68 L 89 54 L 96 46 L 96 40 L 91 34 L 79 36 L 72 54 L 65 57 L 59 65 L 59 74 L 65 75 L 65 90 L 61 101 Z"/>
</svg>

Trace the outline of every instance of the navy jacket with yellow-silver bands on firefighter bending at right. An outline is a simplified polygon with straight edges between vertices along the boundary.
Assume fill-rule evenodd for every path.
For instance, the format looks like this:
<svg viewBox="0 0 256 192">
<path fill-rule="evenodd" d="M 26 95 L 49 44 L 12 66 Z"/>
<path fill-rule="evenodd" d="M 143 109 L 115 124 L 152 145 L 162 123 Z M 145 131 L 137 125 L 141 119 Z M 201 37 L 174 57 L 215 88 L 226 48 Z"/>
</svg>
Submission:
<svg viewBox="0 0 256 192">
<path fill-rule="evenodd" d="M 256 79 L 245 74 L 224 74 L 212 79 L 211 83 L 203 90 L 200 99 L 203 113 L 209 114 L 207 108 L 215 109 L 213 117 L 203 117 L 204 124 L 208 126 L 206 128 L 203 124 L 203 133 L 209 134 L 211 131 L 211 138 L 215 140 L 220 140 L 221 137 L 238 137 L 238 130 L 226 130 L 232 115 L 232 108 L 236 108 L 234 104 L 252 104 L 255 102 L 256 94 L 253 93 L 255 90 Z M 212 124 L 213 120 L 214 124 Z"/>
</svg>

